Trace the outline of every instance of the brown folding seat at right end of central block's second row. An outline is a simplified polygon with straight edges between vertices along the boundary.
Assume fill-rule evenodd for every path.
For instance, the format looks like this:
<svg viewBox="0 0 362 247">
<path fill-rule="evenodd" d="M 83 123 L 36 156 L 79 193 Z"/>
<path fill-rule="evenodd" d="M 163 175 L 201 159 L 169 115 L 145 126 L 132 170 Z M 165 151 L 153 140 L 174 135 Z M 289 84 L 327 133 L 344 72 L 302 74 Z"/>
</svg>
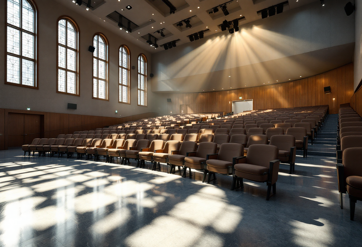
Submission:
<svg viewBox="0 0 362 247">
<path fill-rule="evenodd" d="M 278 148 L 278 159 L 281 163 L 289 164 L 289 174 L 294 172 L 295 167 L 295 137 L 292 135 L 273 135 L 269 145 Z"/>
</svg>

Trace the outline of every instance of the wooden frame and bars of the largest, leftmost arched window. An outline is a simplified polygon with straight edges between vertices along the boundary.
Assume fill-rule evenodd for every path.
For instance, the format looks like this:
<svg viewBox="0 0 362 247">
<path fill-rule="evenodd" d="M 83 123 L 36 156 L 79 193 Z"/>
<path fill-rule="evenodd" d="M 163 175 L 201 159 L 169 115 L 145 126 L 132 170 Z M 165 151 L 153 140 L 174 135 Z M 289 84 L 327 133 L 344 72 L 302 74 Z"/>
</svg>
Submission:
<svg viewBox="0 0 362 247">
<path fill-rule="evenodd" d="M 34 1 L 32 0 L 26 0 L 28 1 L 31 6 L 33 6 L 33 10 L 34 10 L 34 32 L 29 32 L 25 29 L 22 29 L 22 0 L 20 0 L 20 27 L 16 27 L 16 26 L 13 26 L 11 24 L 8 23 L 8 1 L 5 0 L 5 14 L 4 14 L 4 17 L 5 17 L 5 45 L 4 45 L 4 49 L 5 49 L 5 69 L 4 69 L 4 83 L 5 84 L 8 84 L 8 85 L 13 85 L 13 86 L 18 86 L 18 87 L 27 87 L 27 88 L 33 88 L 33 89 L 39 89 L 39 83 L 38 83 L 38 7 L 37 5 L 34 3 Z M 13 53 L 9 53 L 7 51 L 7 43 L 8 43 L 8 26 L 14 28 L 14 29 L 17 29 L 20 31 L 20 55 L 16 55 L 16 54 L 13 54 Z M 31 59 L 31 58 L 28 58 L 28 57 L 24 57 L 21 55 L 22 53 L 22 33 L 23 32 L 27 32 L 31 35 L 34 35 L 34 58 Z M 12 83 L 12 82 L 8 82 L 8 78 L 7 78 L 7 57 L 8 55 L 11 55 L 11 56 L 14 56 L 14 57 L 18 57 L 20 58 L 20 63 L 19 63 L 19 66 L 20 66 L 20 71 L 19 71 L 19 78 L 20 78 L 20 83 Z M 31 60 L 34 62 L 34 84 L 35 86 L 28 86 L 28 85 L 24 85 L 24 84 L 21 84 L 22 82 L 22 59 L 26 59 L 26 60 Z"/>
</svg>

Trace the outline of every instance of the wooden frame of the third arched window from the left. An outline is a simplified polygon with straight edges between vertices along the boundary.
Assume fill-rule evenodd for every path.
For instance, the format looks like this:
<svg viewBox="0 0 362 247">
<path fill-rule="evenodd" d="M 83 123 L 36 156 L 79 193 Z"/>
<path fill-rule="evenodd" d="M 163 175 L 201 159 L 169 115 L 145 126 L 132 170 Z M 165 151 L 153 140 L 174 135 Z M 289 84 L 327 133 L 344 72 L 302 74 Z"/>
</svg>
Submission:
<svg viewBox="0 0 362 247">
<path fill-rule="evenodd" d="M 105 46 L 106 46 L 106 51 L 105 51 L 105 56 L 106 56 L 106 60 L 103 60 L 103 59 L 100 59 L 100 58 L 98 58 L 98 54 L 97 54 L 97 57 L 94 57 L 94 53 L 93 53 L 93 55 L 92 55 L 92 99 L 97 99 L 97 100 L 105 100 L 105 101 L 109 101 L 109 82 L 108 82 L 108 79 L 109 79 L 109 62 L 108 62 L 108 60 L 109 60 L 109 43 L 108 43 L 108 39 L 106 38 L 106 36 L 104 35 L 104 34 L 102 34 L 101 32 L 97 32 L 97 33 L 95 33 L 94 35 L 93 35 L 93 37 L 92 37 L 92 44 L 93 44 L 93 40 L 94 40 L 94 37 L 95 36 L 101 36 L 102 38 L 103 38 L 103 40 L 104 40 L 104 44 L 105 44 Z M 99 49 L 98 49 L 98 39 L 97 39 L 97 52 L 99 51 Z M 99 77 L 94 77 L 94 71 L 93 71 L 93 59 L 94 58 L 96 58 L 97 60 L 100 60 L 100 61 L 104 61 L 105 63 L 106 63 L 106 72 L 105 72 L 105 75 L 106 75 L 106 79 L 101 79 L 101 78 L 99 78 Z M 98 75 L 98 66 L 97 66 L 97 75 Z M 93 92 L 94 92 L 94 88 L 93 88 L 93 79 L 97 79 L 97 87 L 98 87 L 98 80 L 100 79 L 100 80 L 104 80 L 105 81 L 105 83 L 106 83 L 106 89 L 105 89 L 105 94 L 106 94 L 106 97 L 105 97 L 105 99 L 102 99 L 102 98 L 98 98 L 98 97 L 94 97 L 93 96 Z M 98 90 L 97 90 L 97 95 L 98 95 Z"/>
</svg>

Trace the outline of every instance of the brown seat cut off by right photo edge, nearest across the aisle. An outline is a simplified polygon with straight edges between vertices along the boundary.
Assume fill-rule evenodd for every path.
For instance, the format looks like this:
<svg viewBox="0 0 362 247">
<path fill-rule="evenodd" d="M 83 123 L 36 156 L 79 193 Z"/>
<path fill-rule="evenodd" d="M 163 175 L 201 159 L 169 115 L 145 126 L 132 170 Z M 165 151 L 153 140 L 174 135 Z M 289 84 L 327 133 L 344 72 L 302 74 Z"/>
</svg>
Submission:
<svg viewBox="0 0 362 247">
<path fill-rule="evenodd" d="M 342 194 L 348 193 L 350 220 L 354 220 L 355 204 L 362 200 L 362 148 L 347 148 L 343 152 L 342 164 L 337 164 L 340 207 L 343 209 Z"/>
</svg>

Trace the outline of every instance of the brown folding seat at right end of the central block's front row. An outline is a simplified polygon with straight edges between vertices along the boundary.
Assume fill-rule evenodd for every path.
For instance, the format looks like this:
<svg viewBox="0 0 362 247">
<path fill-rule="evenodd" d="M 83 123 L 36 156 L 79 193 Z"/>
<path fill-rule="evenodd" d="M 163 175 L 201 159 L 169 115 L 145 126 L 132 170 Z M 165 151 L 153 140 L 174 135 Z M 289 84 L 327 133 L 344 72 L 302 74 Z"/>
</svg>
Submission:
<svg viewBox="0 0 362 247">
<path fill-rule="evenodd" d="M 260 155 L 260 154 L 263 155 Z M 255 181 L 266 182 L 268 191 L 266 200 L 270 198 L 270 191 L 273 187 L 275 195 L 276 182 L 278 181 L 279 160 L 278 148 L 271 145 L 255 144 L 250 146 L 247 156 L 235 159 L 232 164 L 232 187 L 235 190 L 238 187 L 243 188 L 243 178 Z M 207 161 L 206 161 L 207 162 Z M 239 184 L 239 185 L 237 185 Z"/>
</svg>

